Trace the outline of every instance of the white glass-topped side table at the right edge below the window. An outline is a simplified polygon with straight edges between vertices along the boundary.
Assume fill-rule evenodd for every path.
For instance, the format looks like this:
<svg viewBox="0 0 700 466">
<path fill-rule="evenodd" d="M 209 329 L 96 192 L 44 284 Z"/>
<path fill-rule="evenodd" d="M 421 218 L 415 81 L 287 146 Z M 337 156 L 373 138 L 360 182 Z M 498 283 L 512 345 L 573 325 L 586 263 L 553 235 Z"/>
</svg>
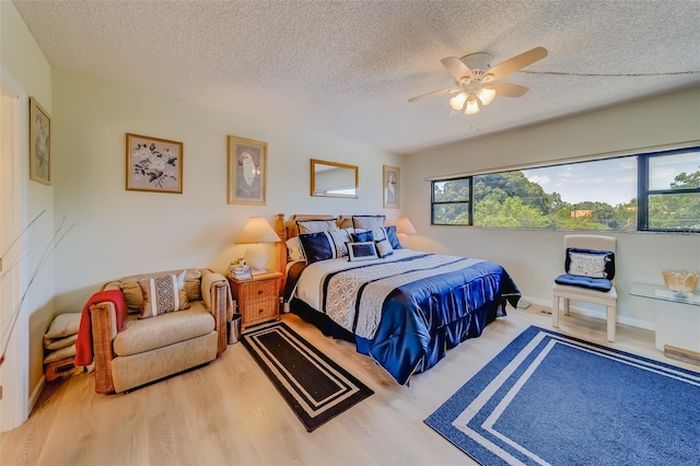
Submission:
<svg viewBox="0 0 700 466">
<path fill-rule="evenodd" d="M 654 300 L 656 349 L 668 357 L 680 350 L 680 356 L 690 360 L 700 358 L 700 294 L 697 291 L 676 294 L 661 286 L 634 283 L 630 294 Z M 692 362 L 700 363 L 700 360 Z"/>
</svg>

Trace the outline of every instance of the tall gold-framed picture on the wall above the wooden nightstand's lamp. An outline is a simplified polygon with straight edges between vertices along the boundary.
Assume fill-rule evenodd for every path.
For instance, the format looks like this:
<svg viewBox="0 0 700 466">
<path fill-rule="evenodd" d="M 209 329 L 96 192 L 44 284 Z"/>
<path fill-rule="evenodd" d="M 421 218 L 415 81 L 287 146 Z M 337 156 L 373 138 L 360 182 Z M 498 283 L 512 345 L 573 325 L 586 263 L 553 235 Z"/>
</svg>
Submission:
<svg viewBox="0 0 700 466">
<path fill-rule="evenodd" d="M 229 203 L 265 206 L 267 142 L 229 136 Z"/>
</svg>

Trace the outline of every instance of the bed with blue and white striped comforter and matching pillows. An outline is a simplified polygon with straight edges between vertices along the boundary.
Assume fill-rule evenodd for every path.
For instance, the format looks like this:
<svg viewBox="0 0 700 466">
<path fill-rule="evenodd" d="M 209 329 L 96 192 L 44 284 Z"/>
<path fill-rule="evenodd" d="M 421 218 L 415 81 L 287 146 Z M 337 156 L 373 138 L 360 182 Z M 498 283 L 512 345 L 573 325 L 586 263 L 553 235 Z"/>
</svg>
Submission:
<svg viewBox="0 0 700 466">
<path fill-rule="evenodd" d="M 395 229 L 383 223 L 383 215 L 293 215 L 283 228 L 278 221 L 287 236 L 284 301 L 324 334 L 353 341 L 405 385 L 504 316 L 520 291 L 498 264 L 401 248 Z M 368 231 L 377 240 L 357 241 L 368 240 Z M 343 237 L 350 241 L 340 244 Z M 374 255 L 353 255 L 371 245 Z"/>
</svg>

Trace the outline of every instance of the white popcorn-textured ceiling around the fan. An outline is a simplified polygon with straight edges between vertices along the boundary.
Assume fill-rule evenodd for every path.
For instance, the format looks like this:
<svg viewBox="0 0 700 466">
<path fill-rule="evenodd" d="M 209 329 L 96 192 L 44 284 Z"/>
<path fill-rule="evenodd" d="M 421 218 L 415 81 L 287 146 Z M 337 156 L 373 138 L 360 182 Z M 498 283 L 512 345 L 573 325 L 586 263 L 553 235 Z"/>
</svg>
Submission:
<svg viewBox="0 0 700 466">
<path fill-rule="evenodd" d="M 700 83 L 696 0 L 14 4 L 57 69 L 400 153 Z M 536 46 L 503 80 L 523 97 L 472 116 L 407 102 L 453 85 L 444 57 Z"/>
</svg>

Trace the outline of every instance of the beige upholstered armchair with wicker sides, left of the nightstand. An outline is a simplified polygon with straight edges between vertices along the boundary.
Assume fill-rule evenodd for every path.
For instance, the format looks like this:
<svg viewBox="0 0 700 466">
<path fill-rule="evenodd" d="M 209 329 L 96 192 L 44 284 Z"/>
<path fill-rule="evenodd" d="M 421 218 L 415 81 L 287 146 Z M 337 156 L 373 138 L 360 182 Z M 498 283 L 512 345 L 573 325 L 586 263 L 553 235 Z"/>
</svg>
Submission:
<svg viewBox="0 0 700 466">
<path fill-rule="evenodd" d="M 182 296 L 182 301 L 188 307 L 161 314 L 154 305 L 152 316 L 139 318 L 144 295 L 147 303 L 151 303 L 151 289 L 144 286 L 163 277 L 173 277 L 175 281 L 176 276 L 180 279 L 184 276 L 180 293 L 186 293 L 187 299 Z M 90 305 L 95 392 L 129 391 L 209 363 L 226 349 L 226 318 L 233 310 L 223 276 L 209 269 L 138 275 L 108 282 L 101 291 L 108 290 L 121 291 L 128 315 L 122 330 L 117 331 L 114 302 Z M 158 294 L 155 288 L 152 290 Z"/>
</svg>

